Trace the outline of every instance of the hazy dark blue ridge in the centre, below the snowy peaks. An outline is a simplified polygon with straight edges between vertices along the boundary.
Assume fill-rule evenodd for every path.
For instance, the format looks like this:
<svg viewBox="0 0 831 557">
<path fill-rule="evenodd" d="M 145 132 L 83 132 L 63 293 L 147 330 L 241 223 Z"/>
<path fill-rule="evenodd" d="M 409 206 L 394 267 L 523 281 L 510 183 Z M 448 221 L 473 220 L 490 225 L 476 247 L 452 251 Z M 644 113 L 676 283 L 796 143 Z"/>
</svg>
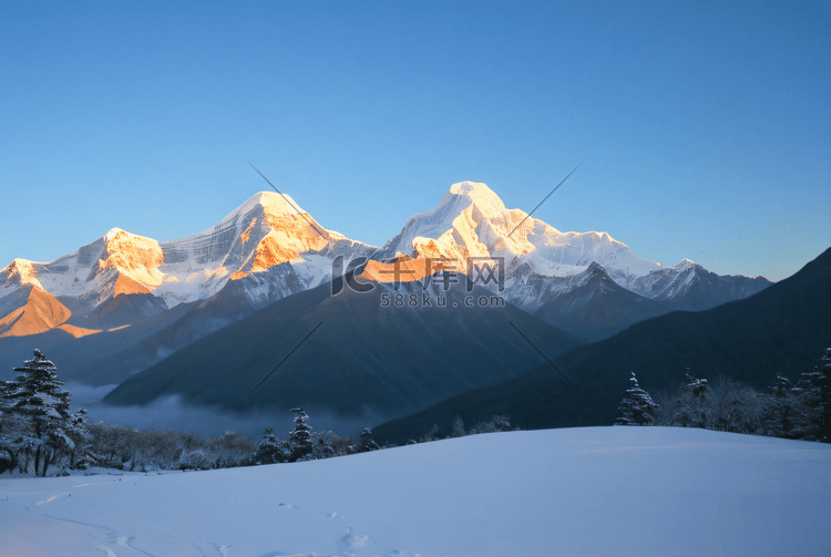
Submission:
<svg viewBox="0 0 831 557">
<path fill-rule="evenodd" d="M 104 402 L 145 404 L 178 394 L 229 410 L 301 405 L 394 416 L 544 361 L 514 327 L 550 357 L 584 342 L 510 303 L 480 306 L 480 299 L 493 299 L 480 287 L 468 293 L 463 285 L 449 291 L 437 283 L 424 291 L 416 282 L 400 291 L 392 283 L 375 286 L 331 296 L 322 285 L 278 300 L 130 378 Z M 406 300 L 400 307 L 399 293 Z M 430 307 L 423 296 L 431 297 Z M 447 306 L 438 307 L 442 296 Z"/>
</svg>

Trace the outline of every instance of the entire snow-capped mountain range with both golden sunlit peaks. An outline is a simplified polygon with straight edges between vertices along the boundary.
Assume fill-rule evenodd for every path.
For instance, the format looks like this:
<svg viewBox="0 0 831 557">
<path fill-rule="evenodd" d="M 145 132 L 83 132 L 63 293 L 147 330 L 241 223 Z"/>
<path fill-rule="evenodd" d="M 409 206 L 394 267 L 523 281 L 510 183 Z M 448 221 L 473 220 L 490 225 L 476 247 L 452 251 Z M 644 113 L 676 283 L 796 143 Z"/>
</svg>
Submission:
<svg viewBox="0 0 831 557">
<path fill-rule="evenodd" d="M 276 300 L 322 285 L 338 256 L 371 257 L 361 278 L 376 282 L 391 280 L 383 261 L 392 258 L 410 270 L 429 257 L 443 259 L 430 272 L 454 266 L 470 272 L 469 257 L 501 257 L 501 295 L 509 302 L 589 339 L 770 283 L 719 277 L 688 260 L 673 267 L 648 261 L 605 233 L 562 233 L 507 209 L 484 184 L 454 184 L 380 250 L 325 229 L 290 198 L 266 192 L 187 238 L 158 243 L 113 228 L 50 262 L 16 259 L 0 270 L 0 365 L 29 354 L 28 339 L 38 334 L 39 348 L 64 370 L 96 384 L 120 382 Z"/>
</svg>

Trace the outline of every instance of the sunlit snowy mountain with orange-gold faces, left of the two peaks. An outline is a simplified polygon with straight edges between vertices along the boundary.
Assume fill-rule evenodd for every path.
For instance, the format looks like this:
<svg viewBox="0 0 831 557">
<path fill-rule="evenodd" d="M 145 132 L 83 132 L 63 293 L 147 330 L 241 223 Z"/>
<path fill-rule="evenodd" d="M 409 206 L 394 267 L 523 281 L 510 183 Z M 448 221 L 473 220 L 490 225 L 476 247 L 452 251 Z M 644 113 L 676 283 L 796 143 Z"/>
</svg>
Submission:
<svg viewBox="0 0 831 557">
<path fill-rule="evenodd" d="M 258 309 L 328 279 L 335 256 L 375 249 L 326 230 L 288 196 L 264 192 L 187 238 L 160 244 L 113 228 L 51 262 L 16 259 L 0 271 L 0 337 L 62 326 L 75 336 L 100 332 L 124 297 L 143 297 L 138 313 L 148 317 L 208 299 L 233 281 L 246 286 L 245 297 Z M 133 324 L 136 317 L 103 324 Z"/>
</svg>

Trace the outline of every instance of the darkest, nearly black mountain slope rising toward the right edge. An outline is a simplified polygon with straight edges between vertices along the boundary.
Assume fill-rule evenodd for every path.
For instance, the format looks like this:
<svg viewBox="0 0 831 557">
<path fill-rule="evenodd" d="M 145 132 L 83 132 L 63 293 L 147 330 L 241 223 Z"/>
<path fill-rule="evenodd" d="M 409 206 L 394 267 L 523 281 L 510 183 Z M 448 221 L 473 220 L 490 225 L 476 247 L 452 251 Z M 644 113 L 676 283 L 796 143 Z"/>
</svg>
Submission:
<svg viewBox="0 0 831 557">
<path fill-rule="evenodd" d="M 418 439 L 439 425 L 451 431 L 494 414 L 526 429 L 608 425 L 632 372 L 648 391 L 675 391 L 687 373 L 732 377 L 756 389 L 777 373 L 796 379 L 831 345 L 831 249 L 799 272 L 743 300 L 717 308 L 675 311 L 632 326 L 599 342 L 577 347 L 550 365 L 447 400 L 418 414 L 376 427 L 381 442 Z"/>
</svg>

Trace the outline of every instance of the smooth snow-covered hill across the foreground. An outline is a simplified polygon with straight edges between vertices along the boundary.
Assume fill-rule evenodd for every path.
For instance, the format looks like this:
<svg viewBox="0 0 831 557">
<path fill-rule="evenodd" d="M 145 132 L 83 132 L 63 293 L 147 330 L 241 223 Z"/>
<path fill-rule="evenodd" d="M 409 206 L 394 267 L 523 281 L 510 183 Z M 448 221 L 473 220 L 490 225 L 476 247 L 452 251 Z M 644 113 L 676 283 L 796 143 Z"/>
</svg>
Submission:
<svg viewBox="0 0 831 557">
<path fill-rule="evenodd" d="M 3 556 L 831 555 L 831 446 L 495 433 L 212 472 L 0 479 Z"/>
</svg>

